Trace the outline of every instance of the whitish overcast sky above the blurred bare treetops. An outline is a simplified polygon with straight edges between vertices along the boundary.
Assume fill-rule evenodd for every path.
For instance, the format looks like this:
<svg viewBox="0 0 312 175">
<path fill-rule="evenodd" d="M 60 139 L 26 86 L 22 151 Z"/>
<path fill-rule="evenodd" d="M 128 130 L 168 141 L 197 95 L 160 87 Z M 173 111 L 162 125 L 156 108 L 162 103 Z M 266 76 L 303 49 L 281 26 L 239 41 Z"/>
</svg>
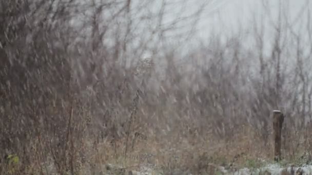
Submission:
<svg viewBox="0 0 312 175">
<path fill-rule="evenodd" d="M 192 11 L 194 8 L 198 7 L 198 0 L 189 0 L 188 3 L 192 2 L 194 6 L 190 6 L 186 9 L 186 13 Z M 279 14 L 280 2 L 282 3 L 283 16 L 287 16 L 288 23 L 294 24 L 296 27 L 294 30 L 303 30 L 300 26 L 301 22 L 306 24 L 307 21 L 307 10 L 312 10 L 311 0 L 206 0 L 210 1 L 211 4 L 208 5 L 206 11 L 203 13 L 198 26 L 198 36 L 201 40 L 209 41 L 209 34 L 211 30 L 214 32 L 220 32 L 221 36 L 226 34 L 232 36 L 236 32 L 240 34 L 246 34 L 244 39 L 244 46 L 251 48 L 254 47 L 254 35 L 248 35 L 247 32 L 253 31 L 253 23 L 258 23 L 260 25 L 261 18 L 264 23 L 264 54 L 270 56 L 271 45 L 274 43 L 274 37 L 272 37 L 273 32 L 275 32 L 273 25 L 276 24 Z M 309 2 L 311 1 L 311 2 Z M 267 5 L 269 10 L 264 8 L 264 4 Z M 304 13 L 301 13 L 304 12 Z M 269 14 L 270 13 L 270 14 Z M 301 14 L 301 15 L 299 15 Z M 299 16 L 299 17 L 298 17 Z M 285 22 L 285 21 L 284 21 Z M 312 24 L 312 21 L 311 21 Z M 306 30 L 306 28 L 304 28 Z M 302 33 L 303 32 L 297 32 Z M 244 36 L 243 36 L 244 37 Z M 284 36 L 283 36 L 284 37 Z M 286 36 L 287 37 L 287 36 Z M 304 37 L 303 37 L 304 38 Z M 198 40 L 194 39 L 193 46 L 189 46 L 189 43 L 183 47 L 182 52 L 192 51 L 197 48 Z M 246 41 L 246 42 L 245 42 Z M 249 42 L 250 41 L 250 42 Z M 179 43 L 180 44 L 180 43 Z M 192 45 L 192 44 L 191 44 Z M 194 60 L 181 60 L 183 63 Z M 286 64 L 289 64 L 286 62 Z"/>
</svg>

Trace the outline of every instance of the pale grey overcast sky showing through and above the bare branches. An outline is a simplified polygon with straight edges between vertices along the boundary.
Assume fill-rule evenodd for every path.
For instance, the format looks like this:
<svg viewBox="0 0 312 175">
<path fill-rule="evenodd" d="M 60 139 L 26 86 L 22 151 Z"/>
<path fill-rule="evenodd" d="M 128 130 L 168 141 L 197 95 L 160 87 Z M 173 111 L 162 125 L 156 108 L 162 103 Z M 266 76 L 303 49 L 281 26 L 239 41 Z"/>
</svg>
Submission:
<svg viewBox="0 0 312 175">
<path fill-rule="evenodd" d="M 173 2 L 173 5 L 168 6 L 166 9 L 167 12 L 170 14 L 176 14 L 174 12 L 177 12 L 178 15 L 173 16 L 173 18 L 167 17 L 167 20 L 174 20 L 182 15 L 191 14 L 201 7 L 203 3 L 208 3 L 198 22 L 197 32 L 194 33 L 195 36 L 198 37 L 192 37 L 194 38 L 193 40 L 190 38 L 186 40 L 186 42 L 179 42 L 175 40 L 175 38 L 172 40 L 172 44 L 183 47 L 181 51 L 187 53 L 188 51 L 193 51 L 194 48 L 197 48 L 199 43 L 198 39 L 201 39 L 201 41 L 209 41 L 208 37 L 209 34 L 211 34 L 211 30 L 213 30 L 214 33 L 217 32 L 222 35 L 226 34 L 227 36 L 233 36 L 233 34 L 236 34 L 238 31 L 240 34 L 246 33 L 246 36 L 249 36 L 247 32 L 253 32 L 253 23 L 258 23 L 260 26 L 262 19 L 265 26 L 264 50 L 269 53 L 270 50 L 266 48 L 270 48 L 269 45 L 272 43 L 272 34 L 275 32 L 272 26 L 277 21 L 280 3 L 283 7 L 282 11 L 284 12 L 282 15 L 286 15 L 289 23 L 295 24 L 297 30 L 302 29 L 300 26 L 301 21 L 303 24 L 306 23 L 306 12 L 308 8 L 312 10 L 312 7 L 310 7 L 312 6 L 312 2 L 309 3 L 309 1 L 310 0 L 168 0 L 167 2 Z M 154 7 L 158 9 L 157 7 L 161 6 L 161 2 L 162 1 L 158 1 Z M 181 8 L 177 7 L 174 2 L 185 3 L 182 7 L 183 13 L 179 13 Z M 264 8 L 264 5 L 266 8 Z M 191 23 L 186 23 L 186 26 L 190 27 Z M 180 31 L 178 30 L 178 32 Z M 252 40 L 254 38 L 249 39 Z M 242 43 L 247 45 L 247 47 L 252 47 L 250 42 L 247 39 L 247 41 L 244 40 Z M 150 57 L 150 53 L 147 52 L 143 57 Z"/>
</svg>

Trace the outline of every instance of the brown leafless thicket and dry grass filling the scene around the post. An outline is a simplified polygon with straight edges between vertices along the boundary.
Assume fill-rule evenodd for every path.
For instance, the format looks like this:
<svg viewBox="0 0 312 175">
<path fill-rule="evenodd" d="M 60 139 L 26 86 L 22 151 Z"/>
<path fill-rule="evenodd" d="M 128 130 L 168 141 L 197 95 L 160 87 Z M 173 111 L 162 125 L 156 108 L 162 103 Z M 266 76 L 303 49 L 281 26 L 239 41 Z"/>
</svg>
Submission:
<svg viewBox="0 0 312 175">
<path fill-rule="evenodd" d="M 0 174 L 260 166 L 272 158 L 275 109 L 285 114 L 283 159 L 310 154 L 308 10 L 302 30 L 280 10 L 269 39 L 255 21 L 248 36 L 212 33 L 182 55 L 171 41 L 188 41 L 185 24 L 209 3 L 168 21 L 183 1 L 0 2 Z M 152 61 L 138 72 L 146 51 Z M 18 156 L 14 168 L 6 155 Z"/>
</svg>

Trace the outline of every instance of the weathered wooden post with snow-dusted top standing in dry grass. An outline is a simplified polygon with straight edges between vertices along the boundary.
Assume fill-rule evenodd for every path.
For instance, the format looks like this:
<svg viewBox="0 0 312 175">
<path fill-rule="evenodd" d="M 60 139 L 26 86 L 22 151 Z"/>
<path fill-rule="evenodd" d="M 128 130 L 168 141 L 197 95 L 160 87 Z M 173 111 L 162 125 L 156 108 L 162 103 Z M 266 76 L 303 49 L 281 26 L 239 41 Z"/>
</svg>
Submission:
<svg viewBox="0 0 312 175">
<path fill-rule="evenodd" d="M 282 127 L 284 115 L 280 111 L 273 111 L 273 134 L 274 134 L 274 160 L 281 160 L 281 145 L 282 145 Z"/>
</svg>

